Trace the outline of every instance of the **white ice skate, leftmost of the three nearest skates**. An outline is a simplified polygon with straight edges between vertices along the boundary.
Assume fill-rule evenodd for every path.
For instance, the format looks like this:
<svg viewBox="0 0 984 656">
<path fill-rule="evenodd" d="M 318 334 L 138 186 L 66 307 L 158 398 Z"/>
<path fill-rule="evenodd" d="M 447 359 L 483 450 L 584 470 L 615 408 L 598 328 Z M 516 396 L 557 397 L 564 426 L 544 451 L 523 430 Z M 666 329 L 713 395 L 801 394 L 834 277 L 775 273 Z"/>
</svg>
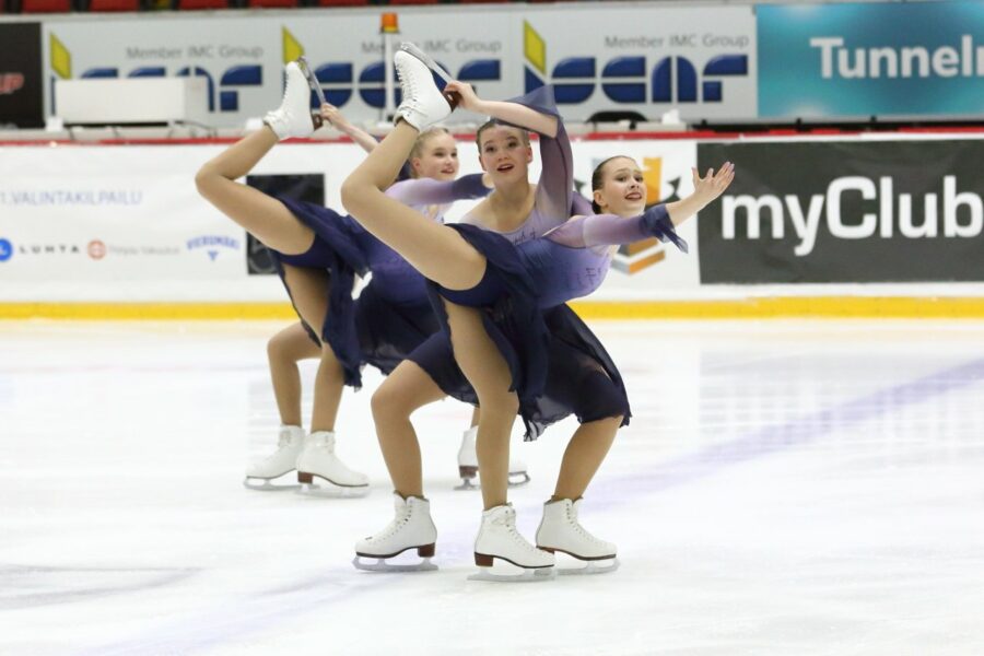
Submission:
<svg viewBox="0 0 984 656">
<path fill-rule="evenodd" d="M 393 501 L 396 508 L 393 522 L 376 535 L 355 543 L 355 559 L 352 564 L 358 570 L 370 572 L 436 570 L 437 565 L 431 562 L 437 541 L 437 528 L 431 519 L 431 502 L 418 496 L 403 499 L 397 493 L 394 493 Z M 421 562 L 410 564 L 386 562 L 411 549 L 417 549 L 417 554 L 423 559 Z M 363 562 L 363 558 L 375 559 L 375 562 Z"/>
</svg>

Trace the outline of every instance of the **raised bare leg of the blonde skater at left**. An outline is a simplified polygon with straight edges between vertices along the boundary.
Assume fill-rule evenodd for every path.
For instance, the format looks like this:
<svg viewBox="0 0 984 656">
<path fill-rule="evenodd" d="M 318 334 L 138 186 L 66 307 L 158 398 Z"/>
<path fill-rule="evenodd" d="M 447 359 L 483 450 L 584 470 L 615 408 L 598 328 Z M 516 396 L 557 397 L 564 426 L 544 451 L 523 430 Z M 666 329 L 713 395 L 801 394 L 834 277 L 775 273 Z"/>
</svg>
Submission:
<svg viewBox="0 0 984 656">
<path fill-rule="evenodd" d="M 277 134 L 263 126 L 207 162 L 195 184 L 202 197 L 265 245 L 298 255 L 311 248 L 314 232 L 276 198 L 235 181 L 253 171 L 276 143 Z"/>
</svg>

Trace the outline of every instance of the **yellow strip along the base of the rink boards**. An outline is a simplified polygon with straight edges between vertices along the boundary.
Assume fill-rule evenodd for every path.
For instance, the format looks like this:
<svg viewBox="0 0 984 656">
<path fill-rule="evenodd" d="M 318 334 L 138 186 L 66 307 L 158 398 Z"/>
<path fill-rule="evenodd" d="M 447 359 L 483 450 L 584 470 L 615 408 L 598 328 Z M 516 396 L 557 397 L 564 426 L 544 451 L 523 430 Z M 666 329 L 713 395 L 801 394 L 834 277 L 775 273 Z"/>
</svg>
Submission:
<svg viewBox="0 0 984 656">
<path fill-rule="evenodd" d="M 984 296 L 777 296 L 719 301 L 582 301 L 585 319 L 984 319 Z M 0 303 L 0 319 L 290 320 L 288 303 Z"/>
</svg>

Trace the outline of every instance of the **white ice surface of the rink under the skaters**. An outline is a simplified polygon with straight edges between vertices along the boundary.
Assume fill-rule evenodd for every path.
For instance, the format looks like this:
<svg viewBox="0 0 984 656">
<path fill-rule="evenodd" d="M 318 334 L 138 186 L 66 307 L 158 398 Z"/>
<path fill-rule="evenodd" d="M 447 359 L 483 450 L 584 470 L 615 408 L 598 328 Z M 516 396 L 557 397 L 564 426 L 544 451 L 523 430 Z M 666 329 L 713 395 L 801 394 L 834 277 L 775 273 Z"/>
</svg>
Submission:
<svg viewBox="0 0 984 656">
<path fill-rule="evenodd" d="M 440 571 L 352 567 L 393 516 L 375 372 L 338 425 L 368 496 L 243 488 L 282 325 L 0 323 L 0 654 L 984 652 L 982 323 L 594 324 L 634 417 L 581 518 L 622 566 L 522 585 L 467 581 L 454 401 L 417 415 Z M 572 426 L 516 446 L 528 538 Z"/>
</svg>

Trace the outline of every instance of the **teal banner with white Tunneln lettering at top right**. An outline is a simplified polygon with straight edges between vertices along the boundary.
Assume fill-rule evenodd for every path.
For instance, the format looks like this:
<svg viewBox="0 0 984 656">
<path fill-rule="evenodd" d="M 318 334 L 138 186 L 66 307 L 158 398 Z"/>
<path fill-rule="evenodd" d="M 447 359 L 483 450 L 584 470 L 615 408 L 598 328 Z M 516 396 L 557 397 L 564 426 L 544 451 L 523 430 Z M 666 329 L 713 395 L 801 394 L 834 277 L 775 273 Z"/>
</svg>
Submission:
<svg viewBox="0 0 984 656">
<path fill-rule="evenodd" d="M 763 118 L 984 113 L 984 3 L 757 8 Z"/>
</svg>

